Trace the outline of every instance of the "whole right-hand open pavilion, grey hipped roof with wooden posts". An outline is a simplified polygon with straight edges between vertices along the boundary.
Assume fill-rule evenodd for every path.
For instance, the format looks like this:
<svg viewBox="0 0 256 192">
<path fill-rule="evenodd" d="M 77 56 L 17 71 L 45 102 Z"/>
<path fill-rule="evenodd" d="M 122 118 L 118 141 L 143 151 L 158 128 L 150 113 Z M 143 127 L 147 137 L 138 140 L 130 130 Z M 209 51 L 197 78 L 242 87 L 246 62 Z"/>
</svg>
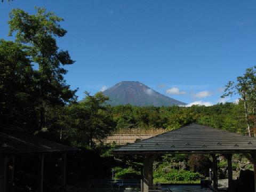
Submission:
<svg viewBox="0 0 256 192">
<path fill-rule="evenodd" d="M 163 154 L 211 154 L 213 159 L 213 188 L 218 188 L 216 154 L 228 161 L 228 191 L 233 191 L 232 155 L 243 154 L 254 167 L 256 191 L 256 139 L 241 134 L 192 123 L 177 130 L 159 134 L 113 150 L 113 154 L 143 156 L 143 184 L 141 191 L 153 186 L 153 162 Z"/>
</svg>

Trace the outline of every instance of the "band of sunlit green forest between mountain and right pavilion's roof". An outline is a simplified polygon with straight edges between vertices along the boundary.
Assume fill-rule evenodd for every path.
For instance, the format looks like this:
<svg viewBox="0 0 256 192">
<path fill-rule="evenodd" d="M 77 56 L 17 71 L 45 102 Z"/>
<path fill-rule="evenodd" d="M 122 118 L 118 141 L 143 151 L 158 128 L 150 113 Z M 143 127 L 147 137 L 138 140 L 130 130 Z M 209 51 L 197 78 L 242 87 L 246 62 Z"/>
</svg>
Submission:
<svg viewBox="0 0 256 192">
<path fill-rule="evenodd" d="M 192 107 L 135 107 L 131 105 L 110 108 L 116 128 L 178 129 L 192 122 L 218 129 L 246 134 L 243 103 L 219 103 L 214 106 Z"/>
</svg>

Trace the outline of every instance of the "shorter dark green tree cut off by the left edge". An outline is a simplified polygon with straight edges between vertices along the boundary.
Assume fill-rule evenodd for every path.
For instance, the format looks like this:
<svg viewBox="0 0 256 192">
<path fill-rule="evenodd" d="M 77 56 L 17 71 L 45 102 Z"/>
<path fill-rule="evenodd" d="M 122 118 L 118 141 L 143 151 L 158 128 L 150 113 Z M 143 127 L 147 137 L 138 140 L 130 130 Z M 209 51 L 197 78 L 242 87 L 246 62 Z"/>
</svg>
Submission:
<svg viewBox="0 0 256 192">
<path fill-rule="evenodd" d="M 36 122 L 33 68 L 26 47 L 0 39 L 0 126 L 30 131 Z"/>
</svg>

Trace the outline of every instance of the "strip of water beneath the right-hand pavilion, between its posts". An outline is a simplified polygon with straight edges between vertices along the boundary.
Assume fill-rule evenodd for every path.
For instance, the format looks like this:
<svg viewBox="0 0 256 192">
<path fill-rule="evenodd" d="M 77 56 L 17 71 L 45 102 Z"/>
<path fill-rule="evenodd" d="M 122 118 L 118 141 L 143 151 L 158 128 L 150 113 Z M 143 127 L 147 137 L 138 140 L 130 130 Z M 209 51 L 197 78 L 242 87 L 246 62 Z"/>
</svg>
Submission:
<svg viewBox="0 0 256 192">
<path fill-rule="evenodd" d="M 209 188 L 203 188 L 201 186 L 190 185 L 170 185 L 167 186 L 172 192 L 212 192 Z"/>
</svg>

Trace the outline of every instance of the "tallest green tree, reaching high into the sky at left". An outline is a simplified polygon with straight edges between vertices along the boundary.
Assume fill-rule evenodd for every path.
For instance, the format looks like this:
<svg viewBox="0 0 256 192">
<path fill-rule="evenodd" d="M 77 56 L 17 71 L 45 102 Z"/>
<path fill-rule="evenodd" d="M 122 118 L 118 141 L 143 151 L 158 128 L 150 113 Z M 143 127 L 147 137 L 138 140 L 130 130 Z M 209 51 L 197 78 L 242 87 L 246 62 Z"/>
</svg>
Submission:
<svg viewBox="0 0 256 192">
<path fill-rule="evenodd" d="M 10 13 L 11 36 L 15 32 L 15 41 L 26 46 L 31 63 L 38 65 L 34 69 L 35 106 L 38 111 L 38 128 L 47 126 L 47 113 L 51 107 L 64 106 L 75 99 L 75 91 L 70 90 L 63 75 L 67 70 L 61 66 L 73 64 L 68 51 L 59 50 L 55 37 L 63 37 L 67 31 L 60 27 L 62 18 L 46 9 L 36 8 L 37 13 L 14 9 Z"/>
</svg>

